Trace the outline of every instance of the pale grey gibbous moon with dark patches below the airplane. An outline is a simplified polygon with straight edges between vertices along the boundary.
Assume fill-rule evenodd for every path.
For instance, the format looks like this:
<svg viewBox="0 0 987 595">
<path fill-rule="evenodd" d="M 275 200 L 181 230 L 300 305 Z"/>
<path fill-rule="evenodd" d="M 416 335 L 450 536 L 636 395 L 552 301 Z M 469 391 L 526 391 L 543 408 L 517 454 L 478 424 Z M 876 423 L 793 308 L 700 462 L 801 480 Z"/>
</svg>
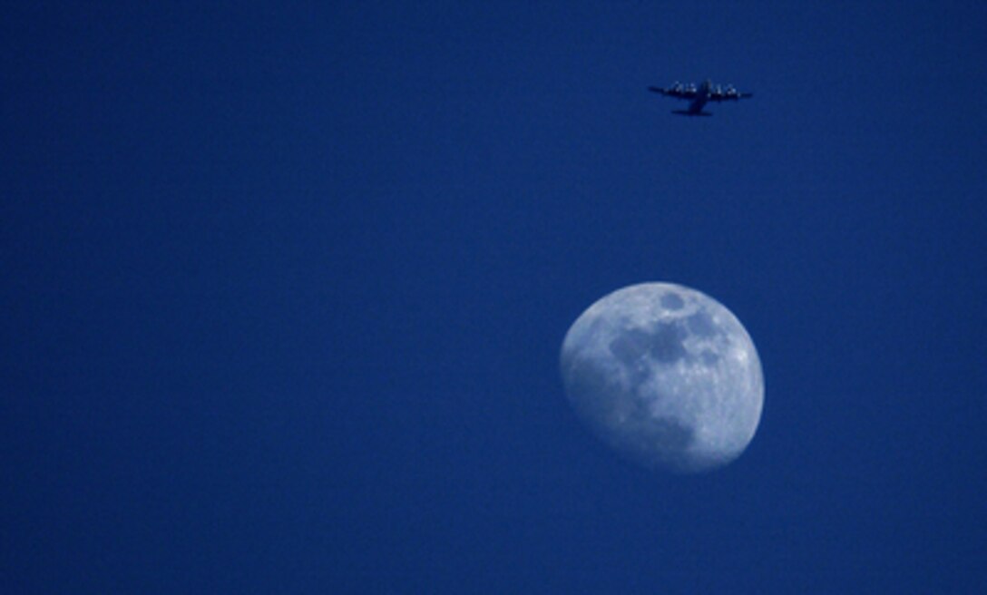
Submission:
<svg viewBox="0 0 987 595">
<path fill-rule="evenodd" d="M 572 323 L 560 359 L 582 421 L 648 468 L 726 465 L 761 419 L 764 376 L 750 335 L 695 289 L 642 283 L 603 297 Z"/>
</svg>

